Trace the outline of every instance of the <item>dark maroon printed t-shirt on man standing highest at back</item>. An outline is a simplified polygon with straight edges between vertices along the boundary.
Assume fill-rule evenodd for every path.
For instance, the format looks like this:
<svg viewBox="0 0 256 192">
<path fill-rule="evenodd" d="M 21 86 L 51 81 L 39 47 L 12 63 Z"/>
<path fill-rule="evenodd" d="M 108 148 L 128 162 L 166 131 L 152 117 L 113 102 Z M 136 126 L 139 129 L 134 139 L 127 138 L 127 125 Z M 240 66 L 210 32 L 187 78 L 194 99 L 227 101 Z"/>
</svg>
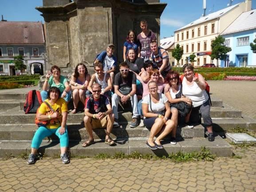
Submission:
<svg viewBox="0 0 256 192">
<path fill-rule="evenodd" d="M 137 39 L 141 43 L 141 57 L 150 57 L 151 49 L 150 49 L 150 43 L 152 40 L 156 40 L 156 35 L 150 31 L 149 35 L 146 36 L 146 38 L 143 38 L 141 34 L 137 36 Z"/>
</svg>

